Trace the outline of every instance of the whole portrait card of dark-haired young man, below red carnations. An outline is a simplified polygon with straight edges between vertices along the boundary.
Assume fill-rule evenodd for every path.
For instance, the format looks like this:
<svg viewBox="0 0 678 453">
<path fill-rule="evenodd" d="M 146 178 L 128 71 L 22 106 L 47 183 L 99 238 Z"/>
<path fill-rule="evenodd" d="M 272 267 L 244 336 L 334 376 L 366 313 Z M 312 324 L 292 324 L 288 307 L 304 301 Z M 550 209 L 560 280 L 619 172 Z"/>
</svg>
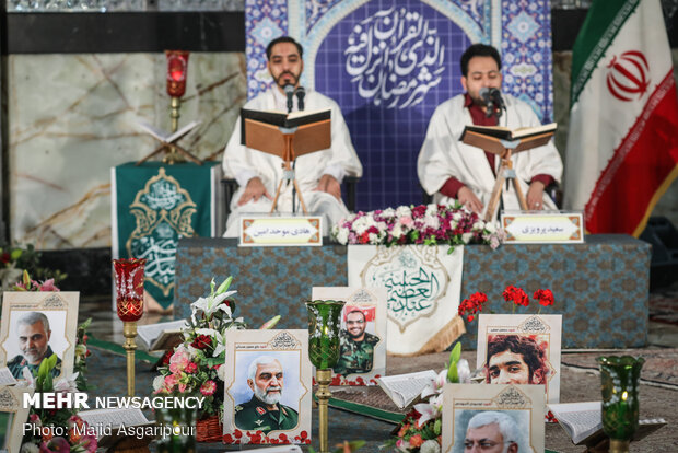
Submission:
<svg viewBox="0 0 678 453">
<path fill-rule="evenodd" d="M 542 384 L 560 400 L 562 315 L 481 314 L 476 368 L 488 384 Z"/>
</svg>

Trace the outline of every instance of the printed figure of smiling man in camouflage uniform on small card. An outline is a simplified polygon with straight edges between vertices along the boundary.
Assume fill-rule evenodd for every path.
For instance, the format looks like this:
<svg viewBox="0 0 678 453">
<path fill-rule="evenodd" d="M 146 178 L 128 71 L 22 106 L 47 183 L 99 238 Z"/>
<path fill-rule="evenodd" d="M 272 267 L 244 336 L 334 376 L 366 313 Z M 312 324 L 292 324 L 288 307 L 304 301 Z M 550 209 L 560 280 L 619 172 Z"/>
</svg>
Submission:
<svg viewBox="0 0 678 453">
<path fill-rule="evenodd" d="M 369 373 L 374 363 L 374 348 L 379 337 L 365 330 L 365 312 L 355 306 L 344 309 L 346 328 L 339 334 L 339 361 L 334 368 L 336 374 L 349 375 Z"/>
</svg>

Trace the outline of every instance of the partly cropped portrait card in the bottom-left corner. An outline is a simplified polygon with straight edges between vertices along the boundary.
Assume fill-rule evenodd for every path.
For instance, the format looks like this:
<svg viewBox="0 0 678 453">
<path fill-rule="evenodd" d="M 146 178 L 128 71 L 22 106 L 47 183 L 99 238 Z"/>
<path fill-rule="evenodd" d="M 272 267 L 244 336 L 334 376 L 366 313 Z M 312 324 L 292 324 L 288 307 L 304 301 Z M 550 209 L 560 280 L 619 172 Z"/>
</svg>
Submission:
<svg viewBox="0 0 678 453">
<path fill-rule="evenodd" d="M 24 393 L 31 387 L 0 385 L 0 450 L 19 453 L 23 441 L 23 426 L 28 420 L 30 407 L 23 406 Z"/>
</svg>

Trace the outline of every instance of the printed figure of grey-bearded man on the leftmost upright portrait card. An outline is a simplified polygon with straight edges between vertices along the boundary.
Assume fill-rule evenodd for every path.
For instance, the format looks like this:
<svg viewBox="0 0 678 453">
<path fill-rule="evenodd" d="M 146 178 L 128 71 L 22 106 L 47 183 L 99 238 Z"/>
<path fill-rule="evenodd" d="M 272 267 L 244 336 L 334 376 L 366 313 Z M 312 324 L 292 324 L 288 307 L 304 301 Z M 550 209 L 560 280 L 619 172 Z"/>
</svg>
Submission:
<svg viewBox="0 0 678 453">
<path fill-rule="evenodd" d="M 43 360 L 54 355 L 49 346 L 51 328 L 47 315 L 42 312 L 23 313 L 16 323 L 15 345 L 21 353 L 10 359 L 7 367 L 15 379 L 23 379 L 24 369 L 36 375 Z M 61 374 L 61 358 L 57 358 L 57 365 L 51 370 L 54 378 L 59 374 Z"/>
</svg>

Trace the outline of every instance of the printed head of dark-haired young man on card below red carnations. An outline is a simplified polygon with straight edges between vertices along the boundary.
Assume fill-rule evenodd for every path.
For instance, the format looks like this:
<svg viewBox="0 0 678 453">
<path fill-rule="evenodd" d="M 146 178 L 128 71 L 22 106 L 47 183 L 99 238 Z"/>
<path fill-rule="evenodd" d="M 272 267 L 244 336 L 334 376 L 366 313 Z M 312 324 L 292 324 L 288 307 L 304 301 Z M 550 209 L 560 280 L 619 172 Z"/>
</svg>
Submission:
<svg viewBox="0 0 678 453">
<path fill-rule="evenodd" d="M 546 384 L 550 370 L 545 349 L 527 335 L 488 337 L 486 363 L 489 384 Z"/>
</svg>

